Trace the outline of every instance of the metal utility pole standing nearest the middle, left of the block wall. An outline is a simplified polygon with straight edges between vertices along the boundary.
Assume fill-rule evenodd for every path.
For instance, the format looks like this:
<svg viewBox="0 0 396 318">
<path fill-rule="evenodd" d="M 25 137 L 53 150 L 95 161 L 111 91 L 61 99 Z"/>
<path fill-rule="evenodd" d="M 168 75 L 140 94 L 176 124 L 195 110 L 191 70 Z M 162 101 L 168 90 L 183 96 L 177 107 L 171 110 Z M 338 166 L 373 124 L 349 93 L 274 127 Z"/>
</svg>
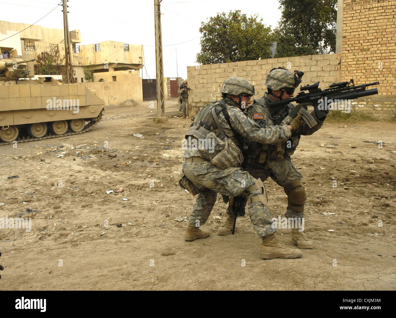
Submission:
<svg viewBox="0 0 396 318">
<path fill-rule="evenodd" d="M 165 117 L 164 64 L 162 62 L 162 32 L 160 8 L 161 2 L 162 0 L 154 0 L 157 117 Z"/>
</svg>

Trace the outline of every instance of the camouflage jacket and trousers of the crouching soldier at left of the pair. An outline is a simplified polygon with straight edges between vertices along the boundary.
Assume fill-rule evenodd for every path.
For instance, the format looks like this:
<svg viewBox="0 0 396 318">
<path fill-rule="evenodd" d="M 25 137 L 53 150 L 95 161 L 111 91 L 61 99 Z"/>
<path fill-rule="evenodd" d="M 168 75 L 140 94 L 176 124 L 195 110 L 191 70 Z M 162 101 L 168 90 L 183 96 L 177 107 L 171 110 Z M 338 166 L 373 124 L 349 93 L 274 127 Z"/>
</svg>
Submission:
<svg viewBox="0 0 396 318">
<path fill-rule="evenodd" d="M 225 116 L 221 112 L 221 107 L 218 107 L 221 106 L 220 102 L 214 102 L 206 105 L 200 113 L 205 111 L 207 107 L 214 105 L 215 112 L 224 134 L 227 138 L 232 139 L 238 147 L 242 147 L 242 143 L 236 136 L 235 132 L 247 139 L 262 143 L 277 143 L 286 141 L 290 137 L 291 132 L 287 127 L 287 122 L 282 122 L 279 126 L 259 129 L 259 126 L 242 113 L 238 108 L 238 105 L 230 98 L 225 98 L 225 103 L 227 104 L 227 111 L 230 116 L 232 128 L 230 128 Z M 198 113 L 197 117 L 200 113 Z M 194 122 L 192 125 L 194 125 Z M 206 129 L 213 131 L 218 137 L 220 136 L 219 129 L 214 122 L 208 122 L 206 124 Z M 198 149 L 185 150 L 185 161 L 188 158 L 198 156 Z M 211 161 L 193 163 L 183 162 L 183 172 L 186 177 L 192 181 L 198 192 L 196 203 L 190 217 L 188 218 L 188 223 L 193 227 L 197 227 L 197 224 L 199 224 L 198 226 L 205 224 L 217 199 L 217 193 L 230 197 L 257 195 L 256 193 L 248 190 L 248 188 L 254 185 L 257 180 L 251 177 L 249 173 L 242 170 L 240 166 L 221 169 L 215 166 Z M 265 188 L 263 189 L 263 194 L 267 196 Z M 248 203 L 249 216 L 255 231 L 258 233 L 259 237 L 262 237 L 267 230 L 268 225 L 270 226 L 272 224 L 271 220 L 265 218 L 265 216 L 269 214 L 268 207 L 263 205 L 261 201 L 253 202 L 253 199 L 251 201 L 251 203 Z M 199 223 L 197 223 L 197 220 Z"/>
</svg>

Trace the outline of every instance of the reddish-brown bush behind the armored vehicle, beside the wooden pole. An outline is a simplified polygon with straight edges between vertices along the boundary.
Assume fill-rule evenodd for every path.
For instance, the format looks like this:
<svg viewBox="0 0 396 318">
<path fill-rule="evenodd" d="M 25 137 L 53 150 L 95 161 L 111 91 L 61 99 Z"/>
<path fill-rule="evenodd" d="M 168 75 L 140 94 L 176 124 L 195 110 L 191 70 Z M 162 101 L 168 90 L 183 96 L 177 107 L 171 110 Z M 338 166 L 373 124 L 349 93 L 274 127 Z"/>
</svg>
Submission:
<svg viewBox="0 0 396 318">
<path fill-rule="evenodd" d="M 63 75 L 66 76 L 65 55 L 60 56 L 59 51 L 41 52 L 36 58 L 34 73 L 37 75 Z"/>
</svg>

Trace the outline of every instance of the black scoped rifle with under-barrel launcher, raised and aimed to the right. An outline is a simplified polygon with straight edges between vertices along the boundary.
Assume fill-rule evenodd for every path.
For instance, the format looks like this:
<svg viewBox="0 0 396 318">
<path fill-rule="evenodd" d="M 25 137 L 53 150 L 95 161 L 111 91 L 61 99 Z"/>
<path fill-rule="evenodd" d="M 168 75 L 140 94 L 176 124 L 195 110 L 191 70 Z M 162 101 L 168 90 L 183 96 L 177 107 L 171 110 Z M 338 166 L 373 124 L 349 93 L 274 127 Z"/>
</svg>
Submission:
<svg viewBox="0 0 396 318">
<path fill-rule="evenodd" d="M 356 86 L 353 82 L 353 79 L 351 79 L 349 82 L 333 83 L 329 86 L 329 88 L 322 90 L 319 88 L 319 83 L 320 82 L 312 85 L 308 84 L 306 86 L 301 85 L 301 92 L 299 92 L 296 97 L 289 98 L 287 100 L 270 102 L 268 103 L 268 106 L 270 107 L 271 111 L 277 111 L 278 109 L 282 108 L 282 106 L 291 102 L 296 102 L 297 104 L 305 103 L 314 107 L 316 117 L 323 118 L 329 112 L 329 108 L 322 101 L 322 98 L 326 97 L 327 100 L 332 100 L 333 102 L 337 100 L 337 102 L 341 102 L 341 100 L 353 100 L 363 96 L 375 95 L 378 94 L 377 88 L 366 90 L 366 87 L 379 85 L 379 82 L 374 82 Z M 308 93 L 306 93 L 305 90 L 308 90 Z M 303 119 L 308 124 L 309 128 L 312 128 L 318 124 L 318 122 L 306 109 L 301 108 L 301 112 L 303 113 Z"/>
</svg>

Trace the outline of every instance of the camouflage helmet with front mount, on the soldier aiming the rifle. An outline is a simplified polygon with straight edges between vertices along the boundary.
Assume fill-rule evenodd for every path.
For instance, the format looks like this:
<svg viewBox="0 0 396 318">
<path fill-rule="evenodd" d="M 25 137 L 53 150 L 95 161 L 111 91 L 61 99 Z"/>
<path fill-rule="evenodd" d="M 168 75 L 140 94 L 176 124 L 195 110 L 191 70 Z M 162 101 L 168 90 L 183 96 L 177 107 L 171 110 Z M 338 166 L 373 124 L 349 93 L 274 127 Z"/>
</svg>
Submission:
<svg viewBox="0 0 396 318">
<path fill-rule="evenodd" d="M 296 88 L 301 83 L 303 72 L 294 71 L 291 73 L 286 68 L 273 68 L 267 75 L 265 86 L 271 90 L 284 88 Z"/>
</svg>

